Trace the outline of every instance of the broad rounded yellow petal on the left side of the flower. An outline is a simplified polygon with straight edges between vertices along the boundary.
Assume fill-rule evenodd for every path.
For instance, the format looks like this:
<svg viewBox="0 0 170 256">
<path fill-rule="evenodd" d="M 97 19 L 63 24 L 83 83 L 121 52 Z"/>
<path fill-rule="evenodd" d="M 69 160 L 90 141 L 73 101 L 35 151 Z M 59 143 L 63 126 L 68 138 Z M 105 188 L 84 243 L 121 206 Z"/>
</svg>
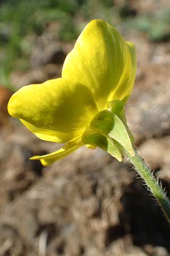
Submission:
<svg viewBox="0 0 170 256">
<path fill-rule="evenodd" d="M 81 136 L 97 108 L 85 85 L 54 79 L 21 88 L 8 112 L 40 139 L 63 143 Z"/>
</svg>

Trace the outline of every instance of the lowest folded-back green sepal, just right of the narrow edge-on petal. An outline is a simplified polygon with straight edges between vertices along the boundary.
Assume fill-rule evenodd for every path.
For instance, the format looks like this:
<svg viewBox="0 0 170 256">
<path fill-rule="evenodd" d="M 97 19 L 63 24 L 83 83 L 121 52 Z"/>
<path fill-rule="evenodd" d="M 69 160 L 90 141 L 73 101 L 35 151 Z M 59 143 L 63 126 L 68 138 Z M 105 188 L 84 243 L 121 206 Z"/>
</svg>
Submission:
<svg viewBox="0 0 170 256">
<path fill-rule="evenodd" d="M 113 139 L 105 137 L 100 133 L 96 133 L 89 127 L 87 127 L 86 131 L 82 134 L 82 142 L 94 147 L 100 147 L 116 158 L 119 162 L 122 161 L 122 154 Z"/>
</svg>

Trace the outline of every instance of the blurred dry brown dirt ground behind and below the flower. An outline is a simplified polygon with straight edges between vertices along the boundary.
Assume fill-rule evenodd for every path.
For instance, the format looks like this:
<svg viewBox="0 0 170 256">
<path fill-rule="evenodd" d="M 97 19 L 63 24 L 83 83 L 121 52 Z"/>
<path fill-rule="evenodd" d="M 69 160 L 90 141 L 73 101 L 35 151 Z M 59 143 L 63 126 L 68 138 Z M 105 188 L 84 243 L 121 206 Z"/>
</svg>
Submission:
<svg viewBox="0 0 170 256">
<path fill-rule="evenodd" d="M 134 32 L 128 39 L 138 57 L 126 108 L 129 127 L 139 152 L 170 195 L 170 45 L 150 43 Z M 39 38 L 37 47 L 41 42 Z M 57 44 L 44 60 L 34 49 L 33 71 L 12 74 L 11 79 L 20 87 L 54 77 L 57 70 L 59 76 L 71 47 Z M 170 228 L 128 161 L 118 163 L 100 149 L 86 147 L 50 167 L 28 160 L 58 147 L 40 141 L 3 113 L 0 256 L 170 255 Z"/>
</svg>

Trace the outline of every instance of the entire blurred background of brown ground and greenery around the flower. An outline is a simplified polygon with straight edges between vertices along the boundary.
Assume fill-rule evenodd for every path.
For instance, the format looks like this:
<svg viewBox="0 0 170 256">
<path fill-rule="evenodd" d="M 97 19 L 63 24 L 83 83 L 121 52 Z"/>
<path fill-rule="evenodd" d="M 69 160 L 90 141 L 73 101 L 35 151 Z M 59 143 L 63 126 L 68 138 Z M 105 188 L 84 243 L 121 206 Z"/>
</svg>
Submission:
<svg viewBox="0 0 170 256">
<path fill-rule="evenodd" d="M 134 42 L 137 78 L 126 113 L 143 158 L 170 195 L 170 1 L 0 0 L 0 256 L 167 256 L 170 229 L 128 162 L 80 148 L 56 151 L 7 114 L 11 94 L 61 76 L 95 18 Z"/>
</svg>

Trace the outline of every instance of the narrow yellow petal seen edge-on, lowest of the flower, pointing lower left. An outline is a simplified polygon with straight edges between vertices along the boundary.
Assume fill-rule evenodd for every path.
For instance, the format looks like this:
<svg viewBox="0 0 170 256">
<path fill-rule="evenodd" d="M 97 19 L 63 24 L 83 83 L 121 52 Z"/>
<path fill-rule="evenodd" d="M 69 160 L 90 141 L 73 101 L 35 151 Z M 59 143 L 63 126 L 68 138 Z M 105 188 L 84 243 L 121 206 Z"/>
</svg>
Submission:
<svg viewBox="0 0 170 256">
<path fill-rule="evenodd" d="M 65 146 L 60 148 L 58 151 L 52 152 L 48 155 L 35 155 L 29 159 L 40 160 L 43 166 L 49 166 L 49 164 L 65 158 L 65 156 L 71 154 L 73 151 L 77 150 L 79 147 L 82 146 L 83 143 L 81 141 L 81 138 L 76 138 L 73 141 L 66 143 Z"/>
</svg>

